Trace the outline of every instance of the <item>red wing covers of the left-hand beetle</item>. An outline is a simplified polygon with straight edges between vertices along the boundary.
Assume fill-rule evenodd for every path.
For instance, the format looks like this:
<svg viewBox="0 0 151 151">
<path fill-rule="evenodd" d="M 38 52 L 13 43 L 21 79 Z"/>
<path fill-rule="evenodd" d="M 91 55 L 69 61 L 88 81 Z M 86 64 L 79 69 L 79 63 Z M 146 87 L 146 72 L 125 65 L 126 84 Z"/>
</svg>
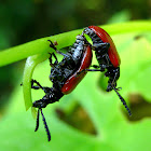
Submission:
<svg viewBox="0 0 151 151">
<path fill-rule="evenodd" d="M 85 77 L 86 71 L 82 72 L 81 74 L 78 76 L 78 72 L 82 71 L 83 69 L 90 68 L 92 64 L 92 49 L 90 45 L 85 47 L 85 52 L 80 65 L 80 68 L 65 82 L 64 86 L 61 87 L 61 93 L 63 94 L 69 94 L 71 93 L 77 85 L 81 82 L 81 80 Z"/>
</svg>

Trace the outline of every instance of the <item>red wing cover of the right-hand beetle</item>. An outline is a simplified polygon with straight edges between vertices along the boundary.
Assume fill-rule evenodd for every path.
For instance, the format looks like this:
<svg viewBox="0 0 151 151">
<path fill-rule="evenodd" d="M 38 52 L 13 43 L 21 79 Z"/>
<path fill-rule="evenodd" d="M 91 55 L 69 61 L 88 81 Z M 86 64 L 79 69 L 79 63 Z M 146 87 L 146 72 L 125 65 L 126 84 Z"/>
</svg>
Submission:
<svg viewBox="0 0 151 151">
<path fill-rule="evenodd" d="M 88 28 L 92 29 L 102 40 L 102 42 L 110 43 L 110 47 L 108 50 L 110 61 L 115 68 L 119 67 L 121 64 L 121 59 L 111 37 L 98 26 L 88 26 Z"/>
</svg>

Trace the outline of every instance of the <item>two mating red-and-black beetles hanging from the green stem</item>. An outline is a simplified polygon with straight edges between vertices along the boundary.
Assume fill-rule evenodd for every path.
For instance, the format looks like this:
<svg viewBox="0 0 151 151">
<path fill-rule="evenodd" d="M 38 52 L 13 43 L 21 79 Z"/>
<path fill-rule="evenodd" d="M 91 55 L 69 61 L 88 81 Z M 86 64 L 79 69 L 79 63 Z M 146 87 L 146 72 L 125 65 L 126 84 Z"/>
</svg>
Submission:
<svg viewBox="0 0 151 151">
<path fill-rule="evenodd" d="M 93 45 L 87 42 L 84 35 L 90 36 Z M 31 81 L 31 88 L 41 88 L 45 93 L 42 99 L 36 100 L 32 105 L 35 108 L 38 108 L 36 131 L 39 128 L 39 111 L 41 111 L 49 141 L 51 140 L 51 134 L 42 113 L 42 108 L 45 108 L 49 104 L 58 101 L 64 95 L 71 93 L 87 71 L 106 71 L 105 76 L 109 77 L 107 92 L 114 90 L 131 115 L 131 110 L 126 106 L 123 97 L 118 93 L 119 88 L 116 88 L 116 81 L 120 77 L 120 57 L 112 39 L 104 29 L 97 26 L 85 28 L 82 35 L 77 37 L 72 47 L 66 54 L 59 52 L 52 41 L 50 42 L 50 46 L 56 53 L 63 55 L 64 58 L 58 63 L 54 53 L 50 56 L 50 66 L 52 67 L 50 80 L 53 83 L 51 88 L 41 86 L 36 80 Z M 99 66 L 92 66 L 95 69 L 88 69 L 92 64 L 92 50 L 95 51 L 99 64 Z M 55 58 L 54 63 L 53 57 Z"/>
</svg>

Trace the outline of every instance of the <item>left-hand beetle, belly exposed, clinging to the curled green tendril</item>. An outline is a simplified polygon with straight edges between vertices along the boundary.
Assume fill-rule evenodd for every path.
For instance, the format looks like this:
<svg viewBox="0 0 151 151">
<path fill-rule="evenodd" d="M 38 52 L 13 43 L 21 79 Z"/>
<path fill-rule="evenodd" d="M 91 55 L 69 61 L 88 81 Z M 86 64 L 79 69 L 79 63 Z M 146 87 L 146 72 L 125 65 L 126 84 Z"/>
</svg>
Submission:
<svg viewBox="0 0 151 151">
<path fill-rule="evenodd" d="M 36 100 L 32 104 L 32 107 L 38 108 L 37 124 L 35 132 L 37 132 L 39 128 L 39 113 L 41 112 L 44 127 L 47 134 L 47 139 L 50 141 L 51 133 L 49 131 L 49 126 L 46 124 L 42 109 L 45 108 L 49 104 L 59 101 L 59 99 L 64 95 L 71 93 L 77 87 L 77 85 L 85 77 L 86 71 L 82 72 L 80 76 L 77 74 L 80 71 L 90 68 L 92 64 L 93 53 L 92 47 L 87 43 L 84 36 L 78 36 L 72 47 L 66 54 L 59 52 L 54 45 L 54 43 L 51 40 L 49 41 L 51 42 L 50 46 L 56 53 L 63 55 L 64 58 L 60 63 L 58 63 L 56 55 L 54 53 L 50 54 L 49 60 L 50 66 L 52 67 L 50 80 L 53 83 L 52 87 L 43 87 L 38 81 L 32 80 L 31 88 L 41 88 L 45 93 L 42 99 Z M 55 58 L 54 63 L 52 60 L 53 56 Z"/>
</svg>

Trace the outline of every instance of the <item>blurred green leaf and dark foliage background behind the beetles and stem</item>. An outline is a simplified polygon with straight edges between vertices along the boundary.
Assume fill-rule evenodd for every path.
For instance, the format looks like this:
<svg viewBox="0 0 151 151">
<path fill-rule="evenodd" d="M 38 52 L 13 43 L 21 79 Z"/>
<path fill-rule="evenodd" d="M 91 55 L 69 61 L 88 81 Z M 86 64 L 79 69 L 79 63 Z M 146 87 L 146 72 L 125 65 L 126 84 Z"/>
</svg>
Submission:
<svg viewBox="0 0 151 151">
<path fill-rule="evenodd" d="M 88 25 L 149 19 L 150 10 L 150 0 L 1 0 L 0 50 Z M 127 116 L 114 92 L 105 92 L 104 74 L 88 73 L 73 93 L 44 110 L 51 142 L 42 121 L 35 133 L 36 122 L 25 111 L 19 86 L 25 60 L 0 67 L 0 150 L 151 150 L 150 33 L 112 37 L 122 61 L 118 85 L 133 116 Z M 51 85 L 49 74 L 46 60 L 37 67 L 33 78 Z M 32 93 L 33 100 L 43 96 L 39 91 Z"/>
</svg>

